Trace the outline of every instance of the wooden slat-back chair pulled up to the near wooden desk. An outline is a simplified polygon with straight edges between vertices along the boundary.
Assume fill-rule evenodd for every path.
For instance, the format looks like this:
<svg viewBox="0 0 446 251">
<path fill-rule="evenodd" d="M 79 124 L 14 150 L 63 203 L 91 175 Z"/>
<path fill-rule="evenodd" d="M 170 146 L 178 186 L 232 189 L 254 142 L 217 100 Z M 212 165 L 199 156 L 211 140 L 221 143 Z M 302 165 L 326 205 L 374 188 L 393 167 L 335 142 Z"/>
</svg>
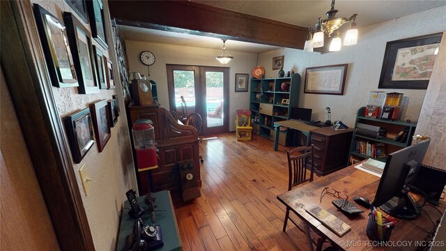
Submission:
<svg viewBox="0 0 446 251">
<path fill-rule="evenodd" d="M 286 158 L 288 159 L 289 169 L 289 183 L 288 190 L 293 189 L 296 185 L 300 185 L 307 181 L 312 182 L 314 176 L 314 158 L 313 158 L 313 146 L 300 146 L 295 149 L 286 151 Z M 310 167 L 309 178 L 307 178 L 307 166 Z M 304 223 L 305 229 L 302 229 L 297 222 L 292 218 L 289 218 L 291 208 L 286 207 L 284 228 L 282 231 L 286 231 L 286 223 L 290 220 L 300 231 L 303 231 L 309 241 L 309 249 L 313 250 L 312 238 L 309 233 L 309 226 Z M 321 238 L 318 239 L 318 245 L 321 242 Z"/>
</svg>

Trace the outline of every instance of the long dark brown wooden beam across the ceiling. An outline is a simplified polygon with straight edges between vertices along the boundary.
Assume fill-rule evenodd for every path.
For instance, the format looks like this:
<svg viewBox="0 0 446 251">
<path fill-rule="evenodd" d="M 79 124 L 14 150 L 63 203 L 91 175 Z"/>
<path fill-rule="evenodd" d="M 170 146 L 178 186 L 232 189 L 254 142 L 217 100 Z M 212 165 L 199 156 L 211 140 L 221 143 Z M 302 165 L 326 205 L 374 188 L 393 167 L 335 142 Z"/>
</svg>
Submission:
<svg viewBox="0 0 446 251">
<path fill-rule="evenodd" d="M 303 49 L 308 29 L 191 1 L 109 1 L 117 24 Z"/>
</svg>

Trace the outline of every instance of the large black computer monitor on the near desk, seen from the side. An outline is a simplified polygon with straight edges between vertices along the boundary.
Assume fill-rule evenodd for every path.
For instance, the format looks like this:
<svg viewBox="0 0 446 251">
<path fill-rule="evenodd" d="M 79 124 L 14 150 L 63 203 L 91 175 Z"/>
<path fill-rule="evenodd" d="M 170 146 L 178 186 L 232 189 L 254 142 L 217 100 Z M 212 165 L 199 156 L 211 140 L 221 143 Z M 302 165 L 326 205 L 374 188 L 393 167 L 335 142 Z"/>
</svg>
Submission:
<svg viewBox="0 0 446 251">
<path fill-rule="evenodd" d="M 429 143 L 427 139 L 387 155 L 374 206 L 401 219 L 412 220 L 420 216 L 417 204 L 408 195 L 407 184 L 417 176 Z"/>
</svg>

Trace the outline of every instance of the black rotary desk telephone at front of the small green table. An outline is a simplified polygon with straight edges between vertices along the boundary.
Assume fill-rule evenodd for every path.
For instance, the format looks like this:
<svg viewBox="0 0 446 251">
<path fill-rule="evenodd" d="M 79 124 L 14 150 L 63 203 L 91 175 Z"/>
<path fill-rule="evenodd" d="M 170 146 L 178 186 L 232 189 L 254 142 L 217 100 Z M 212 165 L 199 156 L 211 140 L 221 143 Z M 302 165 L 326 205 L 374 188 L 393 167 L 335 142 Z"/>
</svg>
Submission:
<svg viewBox="0 0 446 251">
<path fill-rule="evenodd" d="M 144 220 L 138 218 L 133 224 L 133 233 L 127 236 L 125 250 L 147 251 L 160 248 L 162 232 L 160 225 L 146 225 Z"/>
</svg>

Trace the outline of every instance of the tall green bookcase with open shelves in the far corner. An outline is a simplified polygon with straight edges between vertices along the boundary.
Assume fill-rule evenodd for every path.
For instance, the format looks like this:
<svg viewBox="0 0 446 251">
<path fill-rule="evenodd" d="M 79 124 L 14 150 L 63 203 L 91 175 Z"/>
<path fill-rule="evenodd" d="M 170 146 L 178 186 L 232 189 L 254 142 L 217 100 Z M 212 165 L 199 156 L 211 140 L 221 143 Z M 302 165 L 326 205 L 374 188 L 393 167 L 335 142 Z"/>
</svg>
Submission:
<svg viewBox="0 0 446 251">
<path fill-rule="evenodd" d="M 288 83 L 286 91 L 282 84 Z M 291 107 L 298 107 L 300 75 L 269 79 L 251 79 L 249 109 L 252 112 L 253 132 L 270 140 L 275 139 L 273 123 L 290 119 Z M 289 146 L 291 133 L 280 131 L 279 144 Z"/>
</svg>

